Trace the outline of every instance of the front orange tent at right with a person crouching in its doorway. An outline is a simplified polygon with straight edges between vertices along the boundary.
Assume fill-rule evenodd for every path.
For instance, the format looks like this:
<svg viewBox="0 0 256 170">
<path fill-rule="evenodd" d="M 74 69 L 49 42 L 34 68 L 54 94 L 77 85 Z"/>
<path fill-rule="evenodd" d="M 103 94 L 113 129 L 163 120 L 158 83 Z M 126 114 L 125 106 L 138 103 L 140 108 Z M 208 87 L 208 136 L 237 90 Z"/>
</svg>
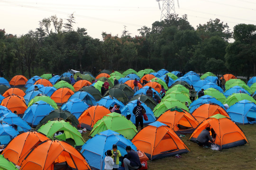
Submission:
<svg viewBox="0 0 256 170">
<path fill-rule="evenodd" d="M 220 114 L 204 120 L 192 133 L 190 140 L 196 142 L 197 137 L 206 127 L 216 132 L 214 143 L 220 150 L 249 143 L 242 130 L 231 119 Z"/>
</svg>

